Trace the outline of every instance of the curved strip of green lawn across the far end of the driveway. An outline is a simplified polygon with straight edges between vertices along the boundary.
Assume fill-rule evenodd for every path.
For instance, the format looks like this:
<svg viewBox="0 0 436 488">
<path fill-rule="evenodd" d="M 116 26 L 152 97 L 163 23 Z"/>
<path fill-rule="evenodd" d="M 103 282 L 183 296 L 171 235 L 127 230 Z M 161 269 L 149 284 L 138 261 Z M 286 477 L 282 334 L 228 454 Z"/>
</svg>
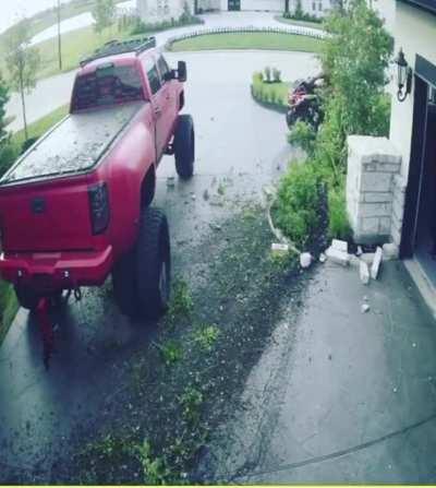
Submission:
<svg viewBox="0 0 436 488">
<path fill-rule="evenodd" d="M 318 52 L 323 41 L 314 37 L 277 33 L 206 34 L 178 40 L 172 51 L 197 51 L 210 49 L 275 49 Z"/>
</svg>

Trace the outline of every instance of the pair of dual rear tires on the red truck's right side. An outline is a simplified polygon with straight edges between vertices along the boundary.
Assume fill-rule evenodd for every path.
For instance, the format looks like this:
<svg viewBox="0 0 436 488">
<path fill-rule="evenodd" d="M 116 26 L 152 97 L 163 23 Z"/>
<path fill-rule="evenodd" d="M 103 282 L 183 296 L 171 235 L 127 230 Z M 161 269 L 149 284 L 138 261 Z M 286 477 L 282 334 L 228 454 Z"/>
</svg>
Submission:
<svg viewBox="0 0 436 488">
<path fill-rule="evenodd" d="M 168 308 L 171 276 L 167 217 L 154 207 L 143 209 L 134 248 L 112 270 L 113 294 L 128 317 L 157 319 Z"/>
</svg>

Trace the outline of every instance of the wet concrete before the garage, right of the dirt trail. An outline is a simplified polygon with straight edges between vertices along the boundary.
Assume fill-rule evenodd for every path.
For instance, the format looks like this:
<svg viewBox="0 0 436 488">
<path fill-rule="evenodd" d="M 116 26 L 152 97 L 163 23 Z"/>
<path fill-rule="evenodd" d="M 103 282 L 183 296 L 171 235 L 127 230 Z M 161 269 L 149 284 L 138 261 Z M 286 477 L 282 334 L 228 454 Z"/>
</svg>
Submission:
<svg viewBox="0 0 436 488">
<path fill-rule="evenodd" d="M 238 483 L 435 483 L 436 329 L 402 263 L 368 287 L 319 264 L 302 300 L 296 316 L 283 302 L 207 469 Z"/>
</svg>

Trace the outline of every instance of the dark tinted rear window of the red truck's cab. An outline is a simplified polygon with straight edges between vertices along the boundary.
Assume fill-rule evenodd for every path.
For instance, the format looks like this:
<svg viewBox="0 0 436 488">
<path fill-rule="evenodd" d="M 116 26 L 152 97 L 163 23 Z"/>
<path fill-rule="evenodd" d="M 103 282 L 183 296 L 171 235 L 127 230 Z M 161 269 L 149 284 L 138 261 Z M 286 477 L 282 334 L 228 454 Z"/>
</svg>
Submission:
<svg viewBox="0 0 436 488">
<path fill-rule="evenodd" d="M 73 111 L 144 99 L 141 75 L 133 66 L 108 64 L 82 74 L 73 93 Z"/>
</svg>

